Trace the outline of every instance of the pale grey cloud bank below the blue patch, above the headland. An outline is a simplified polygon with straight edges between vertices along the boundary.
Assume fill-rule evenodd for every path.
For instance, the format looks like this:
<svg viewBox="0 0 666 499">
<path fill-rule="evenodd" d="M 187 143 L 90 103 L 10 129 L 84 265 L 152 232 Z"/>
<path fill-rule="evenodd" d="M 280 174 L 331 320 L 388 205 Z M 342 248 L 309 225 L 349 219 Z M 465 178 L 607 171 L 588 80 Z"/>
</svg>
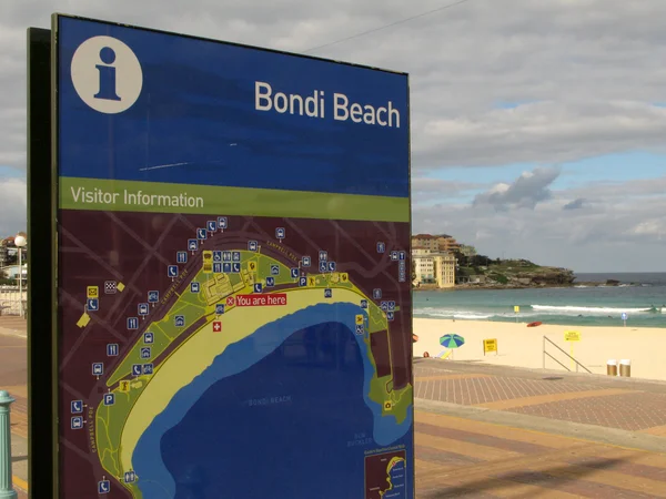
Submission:
<svg viewBox="0 0 666 499">
<path fill-rule="evenodd" d="M 413 231 L 446 232 L 491 257 L 527 258 L 577 272 L 664 272 L 666 196 L 603 208 L 562 210 L 553 192 L 537 210 L 496 211 L 492 205 L 415 205 Z M 571 198 L 571 197 L 568 197 Z"/>
</svg>

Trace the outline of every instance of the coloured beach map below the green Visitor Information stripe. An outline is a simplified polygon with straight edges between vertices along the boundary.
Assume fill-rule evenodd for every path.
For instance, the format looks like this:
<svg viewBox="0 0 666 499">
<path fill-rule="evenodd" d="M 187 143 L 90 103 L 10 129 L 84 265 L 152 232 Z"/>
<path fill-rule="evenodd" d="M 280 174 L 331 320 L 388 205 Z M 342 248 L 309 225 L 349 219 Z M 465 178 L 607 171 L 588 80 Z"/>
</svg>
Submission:
<svg viewBox="0 0 666 499">
<path fill-rule="evenodd" d="M 83 228 L 75 237 L 79 247 L 94 244 L 84 231 L 92 214 L 64 216 Z M 145 215 L 108 216 L 131 234 Z M 270 487 L 249 483 L 243 475 L 258 466 L 258 455 L 271 462 L 262 468 L 265 483 L 290 473 L 297 478 L 290 493 L 297 495 L 315 477 L 329 479 L 335 497 L 342 492 L 333 480 L 341 466 L 363 479 L 359 449 L 387 447 L 408 435 L 411 354 L 400 333 L 410 310 L 383 284 L 396 281 L 405 251 L 392 249 L 389 238 L 377 245 L 367 237 L 336 253 L 324 243 L 331 235 L 322 227 L 315 231 L 324 237 L 321 244 L 296 252 L 290 241 L 301 244 L 299 222 L 312 224 L 292 221 L 287 230 L 270 218 L 173 216 L 167 224 L 183 235 L 182 243 L 174 238 L 173 251 L 164 252 L 173 265 L 152 264 L 163 271 L 157 281 L 109 274 L 81 282 L 80 295 L 100 291 L 97 298 L 83 298 L 85 312 L 67 314 L 78 339 L 93 330 L 103 335 L 104 326 L 120 325 L 127 335 L 124 343 L 113 336 L 95 342 L 99 363 L 89 365 L 93 376 L 88 375 L 94 388 L 81 400 L 101 476 L 110 486 L 111 480 L 122 485 L 127 495 L 119 497 L 181 497 L 198 490 L 208 493 L 200 497 L 225 497 L 215 483 L 225 490 L 256 488 L 245 497 L 262 497 Z M 199 226 L 205 238 L 196 237 L 203 235 Z M 260 238 L 270 226 L 273 237 Z M 373 226 L 385 235 L 395 231 L 390 224 Z M 186 234 L 186 227 L 194 230 Z M 134 253 L 137 244 L 125 242 L 123 253 Z M 377 261 L 372 272 L 382 269 L 384 277 L 373 279 L 381 287 L 365 287 L 359 272 L 349 268 L 346 258 L 365 249 Z M 104 310 L 118 309 L 130 294 L 125 315 L 107 324 Z M 312 454 L 294 449 L 294 439 L 307 441 Z M 220 448 L 233 448 L 233 457 L 215 452 Z"/>
</svg>

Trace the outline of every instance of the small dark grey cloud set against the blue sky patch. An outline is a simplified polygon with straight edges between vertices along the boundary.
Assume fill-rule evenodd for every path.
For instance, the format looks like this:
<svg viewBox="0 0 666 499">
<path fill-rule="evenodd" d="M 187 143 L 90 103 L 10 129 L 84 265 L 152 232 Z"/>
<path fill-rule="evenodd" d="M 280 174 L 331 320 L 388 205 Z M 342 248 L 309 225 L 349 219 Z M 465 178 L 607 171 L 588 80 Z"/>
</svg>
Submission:
<svg viewBox="0 0 666 499">
<path fill-rule="evenodd" d="M 496 210 L 531 208 L 553 195 L 548 186 L 559 176 L 557 167 L 537 167 L 524 172 L 513 184 L 496 184 L 474 198 L 474 206 L 491 205 Z"/>
</svg>

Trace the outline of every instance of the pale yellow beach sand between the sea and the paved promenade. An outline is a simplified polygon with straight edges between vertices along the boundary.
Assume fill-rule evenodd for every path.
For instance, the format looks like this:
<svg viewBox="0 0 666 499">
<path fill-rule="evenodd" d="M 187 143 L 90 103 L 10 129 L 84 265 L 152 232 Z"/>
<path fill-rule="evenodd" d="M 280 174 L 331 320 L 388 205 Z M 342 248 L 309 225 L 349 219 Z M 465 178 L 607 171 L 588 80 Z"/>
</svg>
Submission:
<svg viewBox="0 0 666 499">
<path fill-rule="evenodd" d="M 544 336 L 571 355 L 572 344 L 564 340 L 564 333 L 581 333 L 581 342 L 574 343 L 574 357 L 594 374 L 606 374 L 608 359 L 629 359 L 632 377 L 666 380 L 666 330 L 639 327 L 575 327 L 541 325 L 527 327 L 527 323 L 495 323 L 481 320 L 451 320 L 414 318 L 414 357 L 431 357 L 443 350 L 440 337 L 457 334 L 465 344 L 453 350 L 453 360 L 473 360 L 503 366 L 542 368 Z M 497 354 L 484 356 L 483 340 L 497 339 Z M 546 352 L 572 368 L 569 358 L 546 342 Z M 448 361 L 448 360 L 442 360 Z M 546 357 L 547 369 L 565 370 Z M 572 369 L 575 370 L 575 367 Z M 584 371 L 583 369 L 581 369 Z"/>
</svg>

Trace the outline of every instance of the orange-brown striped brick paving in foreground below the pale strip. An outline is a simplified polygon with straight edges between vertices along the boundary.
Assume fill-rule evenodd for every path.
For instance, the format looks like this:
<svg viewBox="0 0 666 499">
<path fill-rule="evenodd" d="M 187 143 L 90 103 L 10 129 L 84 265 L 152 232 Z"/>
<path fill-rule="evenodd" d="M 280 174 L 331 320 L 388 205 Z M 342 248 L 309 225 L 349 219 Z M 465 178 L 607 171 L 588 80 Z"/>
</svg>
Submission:
<svg viewBox="0 0 666 499">
<path fill-rule="evenodd" d="M 415 436 L 418 499 L 666 498 L 664 455 L 424 411 Z"/>
</svg>

